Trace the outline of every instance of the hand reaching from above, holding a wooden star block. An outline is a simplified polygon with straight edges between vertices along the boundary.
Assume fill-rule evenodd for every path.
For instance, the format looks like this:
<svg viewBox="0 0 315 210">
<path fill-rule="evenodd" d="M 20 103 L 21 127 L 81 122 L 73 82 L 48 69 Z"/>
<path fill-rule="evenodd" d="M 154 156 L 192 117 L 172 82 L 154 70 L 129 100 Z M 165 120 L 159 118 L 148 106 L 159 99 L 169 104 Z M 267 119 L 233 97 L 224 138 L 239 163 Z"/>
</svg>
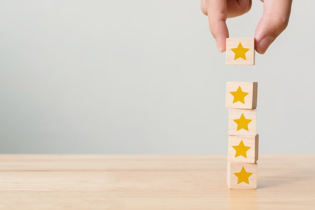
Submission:
<svg viewBox="0 0 315 210">
<path fill-rule="evenodd" d="M 292 0 L 261 0 L 264 14 L 255 31 L 255 49 L 264 54 L 270 44 L 287 27 Z M 226 19 L 247 13 L 252 0 L 201 0 L 201 10 L 208 16 L 209 28 L 216 41 L 219 52 L 226 50 L 228 38 Z"/>
</svg>

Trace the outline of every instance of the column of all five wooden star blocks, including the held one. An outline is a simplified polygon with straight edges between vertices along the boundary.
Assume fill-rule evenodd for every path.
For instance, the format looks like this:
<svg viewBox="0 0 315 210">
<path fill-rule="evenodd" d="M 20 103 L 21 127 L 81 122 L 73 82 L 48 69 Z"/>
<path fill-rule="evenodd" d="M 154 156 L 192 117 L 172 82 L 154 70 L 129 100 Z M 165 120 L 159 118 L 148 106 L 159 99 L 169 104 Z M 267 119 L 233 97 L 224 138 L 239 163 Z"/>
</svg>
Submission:
<svg viewBox="0 0 315 210">
<path fill-rule="evenodd" d="M 226 39 L 226 64 L 254 65 L 254 38 Z M 258 134 L 256 134 L 257 82 L 227 82 L 227 185 L 230 189 L 256 189 Z"/>
</svg>

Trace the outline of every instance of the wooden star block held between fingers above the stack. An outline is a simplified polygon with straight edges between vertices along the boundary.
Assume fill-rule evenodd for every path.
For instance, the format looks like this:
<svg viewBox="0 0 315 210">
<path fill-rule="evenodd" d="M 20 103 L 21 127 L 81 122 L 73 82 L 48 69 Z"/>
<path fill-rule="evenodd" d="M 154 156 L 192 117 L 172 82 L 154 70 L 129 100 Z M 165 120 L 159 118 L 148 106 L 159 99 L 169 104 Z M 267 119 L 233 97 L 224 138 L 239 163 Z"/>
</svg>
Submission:
<svg viewBox="0 0 315 210">
<path fill-rule="evenodd" d="M 255 65 L 255 40 L 250 38 L 226 39 L 227 65 Z"/>
</svg>

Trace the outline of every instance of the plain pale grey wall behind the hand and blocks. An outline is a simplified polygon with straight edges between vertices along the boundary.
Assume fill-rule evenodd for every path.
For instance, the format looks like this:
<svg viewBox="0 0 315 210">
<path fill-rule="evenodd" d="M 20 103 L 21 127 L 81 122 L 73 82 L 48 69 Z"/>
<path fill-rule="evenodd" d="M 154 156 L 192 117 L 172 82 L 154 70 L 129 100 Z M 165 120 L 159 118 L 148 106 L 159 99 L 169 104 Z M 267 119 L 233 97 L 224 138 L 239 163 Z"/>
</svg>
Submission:
<svg viewBox="0 0 315 210">
<path fill-rule="evenodd" d="M 314 8 L 227 66 L 199 1 L 0 1 L 0 153 L 226 154 L 227 81 L 258 82 L 260 153 L 313 153 Z"/>
</svg>

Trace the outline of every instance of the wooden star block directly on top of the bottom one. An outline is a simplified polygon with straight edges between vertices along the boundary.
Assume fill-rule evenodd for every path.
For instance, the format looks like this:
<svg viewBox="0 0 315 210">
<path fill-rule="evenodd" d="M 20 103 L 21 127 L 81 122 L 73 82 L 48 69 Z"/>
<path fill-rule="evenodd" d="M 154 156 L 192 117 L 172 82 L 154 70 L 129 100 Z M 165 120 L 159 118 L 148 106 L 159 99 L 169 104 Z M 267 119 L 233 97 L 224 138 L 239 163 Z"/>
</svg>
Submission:
<svg viewBox="0 0 315 210">
<path fill-rule="evenodd" d="M 256 163 L 258 160 L 258 134 L 229 135 L 227 160 L 230 162 Z"/>
</svg>

